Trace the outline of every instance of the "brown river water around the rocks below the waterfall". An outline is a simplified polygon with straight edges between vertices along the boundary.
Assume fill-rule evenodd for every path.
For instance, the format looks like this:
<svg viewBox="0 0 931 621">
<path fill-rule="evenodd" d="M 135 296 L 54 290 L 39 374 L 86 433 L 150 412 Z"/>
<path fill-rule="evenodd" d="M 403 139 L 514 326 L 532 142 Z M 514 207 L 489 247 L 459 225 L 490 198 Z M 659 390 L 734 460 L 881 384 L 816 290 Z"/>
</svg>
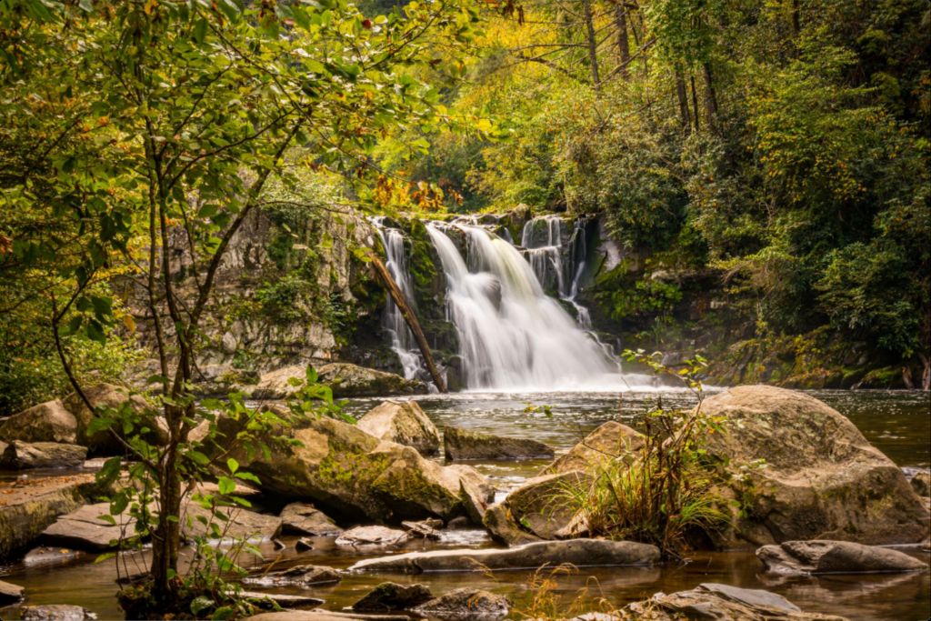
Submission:
<svg viewBox="0 0 931 621">
<path fill-rule="evenodd" d="M 910 391 L 813 391 L 847 415 L 870 441 L 898 466 L 931 465 L 931 397 Z M 425 412 L 438 425 L 456 425 L 502 436 L 539 439 L 557 452 L 564 452 L 606 420 L 636 425 L 642 412 L 657 397 L 667 407 L 689 407 L 695 397 L 686 392 L 617 393 L 459 393 L 418 398 Z M 347 410 L 361 414 L 380 399 L 350 401 Z M 537 411 L 528 412 L 528 406 Z M 549 406 L 550 414 L 539 412 Z M 543 462 L 478 463 L 475 466 L 492 481 L 501 496 L 534 476 Z M 293 539 L 286 539 L 292 543 Z M 436 543 L 414 542 L 396 551 L 437 547 L 488 547 L 492 542 L 483 531 L 449 531 Z M 265 560 L 284 568 L 298 563 L 346 567 L 356 560 L 385 553 L 381 550 L 340 548 L 331 538 L 316 538 L 315 549 L 297 553 L 293 546 L 276 552 L 268 542 L 262 546 Z M 910 554 L 929 560 L 927 553 L 906 548 Z M 93 564 L 88 554 L 57 552 L 52 560 L 27 566 L 20 562 L 0 570 L 0 578 L 26 587 L 28 603 L 74 603 L 87 607 L 101 619 L 122 618 L 115 604 L 113 561 Z M 144 567 L 144 555 L 129 560 Z M 788 598 L 803 610 L 841 614 L 859 621 L 927 619 L 931 615 L 931 574 L 829 575 L 807 578 L 775 578 L 760 574 L 760 563 L 750 552 L 695 553 L 685 564 L 659 568 L 612 568 L 585 574 L 554 576 L 553 592 L 560 597 L 561 613 L 618 607 L 641 600 L 656 591 L 673 592 L 703 582 L 721 582 L 738 587 L 766 588 Z M 326 600 L 324 608 L 340 610 L 358 600 L 387 579 L 399 583 L 424 583 L 434 593 L 465 585 L 506 594 L 517 611 L 531 612 L 533 598 L 540 592 L 528 572 L 495 574 L 352 575 L 335 587 L 276 589 L 277 592 L 313 595 Z M 578 612 L 576 609 L 575 612 Z M 0 617 L 17 618 L 16 609 L 0 609 Z M 519 614 L 512 614 L 519 618 Z"/>
</svg>

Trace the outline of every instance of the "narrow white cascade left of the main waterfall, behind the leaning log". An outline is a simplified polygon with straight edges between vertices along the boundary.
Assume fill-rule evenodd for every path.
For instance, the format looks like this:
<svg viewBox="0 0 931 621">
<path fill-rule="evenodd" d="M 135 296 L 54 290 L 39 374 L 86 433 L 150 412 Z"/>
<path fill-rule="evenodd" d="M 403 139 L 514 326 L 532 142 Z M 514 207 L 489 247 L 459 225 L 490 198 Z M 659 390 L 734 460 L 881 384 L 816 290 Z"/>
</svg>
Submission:
<svg viewBox="0 0 931 621">
<path fill-rule="evenodd" d="M 404 249 L 404 234 L 396 228 L 386 227 L 384 219 L 373 218 L 372 223 L 382 239 L 382 246 L 385 247 L 385 267 L 398 283 L 398 289 L 404 294 L 408 304 L 416 308 L 411 284 L 411 270 L 408 267 L 407 251 Z M 388 296 L 385 304 L 382 325 L 391 338 L 391 349 L 398 355 L 404 377 L 409 380 L 417 377 L 424 368 L 424 359 L 411 329 L 401 316 L 398 304 L 394 303 L 391 296 Z"/>
</svg>

